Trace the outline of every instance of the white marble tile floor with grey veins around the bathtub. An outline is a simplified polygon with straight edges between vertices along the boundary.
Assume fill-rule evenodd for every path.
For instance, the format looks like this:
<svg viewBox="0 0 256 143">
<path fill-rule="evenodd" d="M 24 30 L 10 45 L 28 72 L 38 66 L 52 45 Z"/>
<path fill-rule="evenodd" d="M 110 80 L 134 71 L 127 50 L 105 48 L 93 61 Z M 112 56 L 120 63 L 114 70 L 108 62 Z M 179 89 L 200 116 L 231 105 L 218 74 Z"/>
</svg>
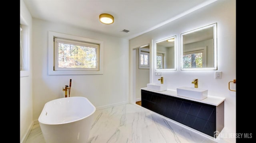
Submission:
<svg viewBox="0 0 256 143">
<path fill-rule="evenodd" d="M 45 143 L 40 125 L 25 143 Z M 87 143 L 216 143 L 135 104 L 96 110 Z"/>
</svg>

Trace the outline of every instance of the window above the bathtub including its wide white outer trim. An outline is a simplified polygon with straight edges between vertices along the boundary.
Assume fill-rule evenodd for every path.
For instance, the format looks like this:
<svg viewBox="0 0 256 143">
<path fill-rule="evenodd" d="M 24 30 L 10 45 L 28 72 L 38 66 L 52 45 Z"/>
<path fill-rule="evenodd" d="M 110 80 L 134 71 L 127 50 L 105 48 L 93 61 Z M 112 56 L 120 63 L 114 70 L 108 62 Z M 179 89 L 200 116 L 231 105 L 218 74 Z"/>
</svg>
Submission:
<svg viewBox="0 0 256 143">
<path fill-rule="evenodd" d="M 103 41 L 49 31 L 48 74 L 103 74 Z"/>
</svg>

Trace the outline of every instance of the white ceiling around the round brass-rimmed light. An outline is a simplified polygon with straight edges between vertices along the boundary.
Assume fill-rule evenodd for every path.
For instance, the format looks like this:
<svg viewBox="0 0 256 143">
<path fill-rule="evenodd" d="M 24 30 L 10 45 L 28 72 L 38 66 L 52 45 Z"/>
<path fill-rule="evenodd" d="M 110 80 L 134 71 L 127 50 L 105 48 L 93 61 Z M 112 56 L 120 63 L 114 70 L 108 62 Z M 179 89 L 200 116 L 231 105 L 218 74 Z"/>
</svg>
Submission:
<svg viewBox="0 0 256 143">
<path fill-rule="evenodd" d="M 216 0 L 24 0 L 33 18 L 132 39 Z M 99 15 L 114 16 L 102 24 Z M 122 32 L 129 30 L 128 33 Z"/>
</svg>

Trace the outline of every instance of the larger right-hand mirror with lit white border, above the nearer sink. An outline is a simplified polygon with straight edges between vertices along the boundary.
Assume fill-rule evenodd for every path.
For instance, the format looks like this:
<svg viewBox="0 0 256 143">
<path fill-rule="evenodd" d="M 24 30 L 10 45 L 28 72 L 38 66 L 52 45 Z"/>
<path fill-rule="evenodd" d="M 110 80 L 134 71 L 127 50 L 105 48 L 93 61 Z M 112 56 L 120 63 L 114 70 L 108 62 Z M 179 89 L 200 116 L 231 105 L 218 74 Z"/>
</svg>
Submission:
<svg viewBox="0 0 256 143">
<path fill-rule="evenodd" d="M 181 70 L 217 70 L 217 23 L 181 34 Z"/>
</svg>

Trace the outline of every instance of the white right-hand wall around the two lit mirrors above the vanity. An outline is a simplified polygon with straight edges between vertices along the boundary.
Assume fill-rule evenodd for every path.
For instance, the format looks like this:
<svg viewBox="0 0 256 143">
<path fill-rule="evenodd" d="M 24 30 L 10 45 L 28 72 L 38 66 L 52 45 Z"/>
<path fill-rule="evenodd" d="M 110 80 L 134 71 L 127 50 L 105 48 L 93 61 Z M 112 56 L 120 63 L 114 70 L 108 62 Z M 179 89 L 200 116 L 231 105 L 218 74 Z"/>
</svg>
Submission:
<svg viewBox="0 0 256 143">
<path fill-rule="evenodd" d="M 181 71 L 180 34 L 217 22 L 218 70 L 222 79 L 215 79 L 215 71 Z M 137 45 L 177 36 L 177 71 L 162 71 L 167 88 L 176 90 L 179 86 L 191 86 L 192 79 L 198 78 L 199 88 L 208 89 L 208 95 L 225 97 L 224 129 L 221 133 L 236 133 L 236 92 L 228 90 L 228 82 L 236 79 L 236 0 L 218 0 L 186 16 L 130 39 L 130 53 Z M 153 48 L 150 48 L 152 51 Z M 152 58 L 151 58 L 152 59 Z M 152 62 L 151 62 L 152 63 Z M 150 67 L 150 82 L 157 82 L 154 65 Z M 132 73 L 132 72 L 131 72 Z M 131 74 L 132 75 L 132 74 Z M 132 81 L 132 80 L 131 80 Z M 133 81 L 132 81 L 133 82 Z M 232 84 L 233 86 L 233 84 Z M 235 89 L 235 87 L 232 87 Z M 131 90 L 131 89 L 130 89 Z M 132 101 L 132 99 L 131 99 Z M 223 138 L 235 142 L 235 138 Z"/>
</svg>

